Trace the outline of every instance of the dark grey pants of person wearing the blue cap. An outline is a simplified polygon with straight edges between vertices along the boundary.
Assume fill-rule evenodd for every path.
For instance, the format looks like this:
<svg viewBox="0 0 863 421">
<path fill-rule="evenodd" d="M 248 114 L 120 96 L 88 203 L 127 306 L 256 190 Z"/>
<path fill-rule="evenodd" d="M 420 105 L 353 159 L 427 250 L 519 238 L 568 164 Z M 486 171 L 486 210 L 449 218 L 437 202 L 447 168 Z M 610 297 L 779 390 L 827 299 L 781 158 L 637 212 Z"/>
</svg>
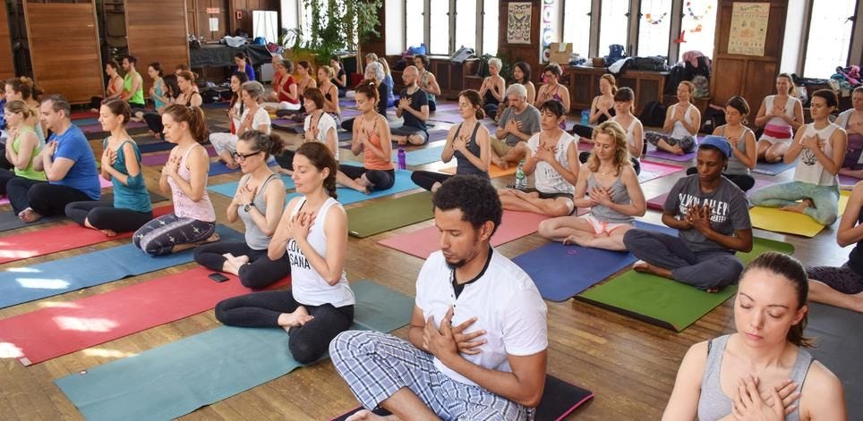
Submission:
<svg viewBox="0 0 863 421">
<path fill-rule="evenodd" d="M 675 281 L 699 290 L 736 283 L 743 272 L 743 263 L 731 250 L 692 251 L 684 240 L 662 232 L 629 230 L 623 234 L 623 243 L 636 257 L 671 269 Z"/>
</svg>

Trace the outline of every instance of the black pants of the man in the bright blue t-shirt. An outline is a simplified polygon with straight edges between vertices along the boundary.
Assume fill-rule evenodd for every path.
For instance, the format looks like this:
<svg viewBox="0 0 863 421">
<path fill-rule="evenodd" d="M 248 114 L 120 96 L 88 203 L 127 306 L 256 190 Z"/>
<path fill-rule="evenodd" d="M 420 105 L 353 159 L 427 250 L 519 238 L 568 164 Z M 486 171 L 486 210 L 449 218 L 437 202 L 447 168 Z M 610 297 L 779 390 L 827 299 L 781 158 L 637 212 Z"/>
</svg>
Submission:
<svg viewBox="0 0 863 421">
<path fill-rule="evenodd" d="M 63 215 L 66 205 L 93 200 L 79 189 L 23 177 L 7 182 L 6 193 L 16 214 L 30 207 L 42 216 Z"/>
</svg>

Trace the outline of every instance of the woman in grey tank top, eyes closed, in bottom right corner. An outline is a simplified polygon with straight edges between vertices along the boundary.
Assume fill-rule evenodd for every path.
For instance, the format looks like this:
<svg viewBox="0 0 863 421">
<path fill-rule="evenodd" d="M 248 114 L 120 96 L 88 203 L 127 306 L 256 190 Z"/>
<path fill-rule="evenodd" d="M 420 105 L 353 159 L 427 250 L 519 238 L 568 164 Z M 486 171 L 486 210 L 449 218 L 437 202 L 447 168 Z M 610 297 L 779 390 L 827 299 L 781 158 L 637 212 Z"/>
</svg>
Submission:
<svg viewBox="0 0 863 421">
<path fill-rule="evenodd" d="M 663 421 L 847 419 L 842 383 L 806 349 L 807 275 L 767 252 L 740 276 L 737 333 L 689 348 Z"/>
</svg>

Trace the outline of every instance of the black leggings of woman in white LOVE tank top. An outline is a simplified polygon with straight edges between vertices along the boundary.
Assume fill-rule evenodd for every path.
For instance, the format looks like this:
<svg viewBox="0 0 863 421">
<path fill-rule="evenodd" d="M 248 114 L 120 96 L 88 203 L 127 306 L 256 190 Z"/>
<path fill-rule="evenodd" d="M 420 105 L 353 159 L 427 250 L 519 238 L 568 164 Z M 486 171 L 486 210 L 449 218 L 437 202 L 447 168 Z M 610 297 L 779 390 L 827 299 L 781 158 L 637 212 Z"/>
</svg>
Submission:
<svg viewBox="0 0 863 421">
<path fill-rule="evenodd" d="M 279 315 L 292 313 L 300 306 L 314 318 L 307 324 L 290 329 L 287 347 L 298 363 L 309 364 L 327 352 L 329 342 L 338 333 L 351 327 L 354 306 L 305 306 L 294 299 L 291 290 L 265 290 L 219 302 L 216 318 L 230 326 L 277 327 Z"/>
</svg>

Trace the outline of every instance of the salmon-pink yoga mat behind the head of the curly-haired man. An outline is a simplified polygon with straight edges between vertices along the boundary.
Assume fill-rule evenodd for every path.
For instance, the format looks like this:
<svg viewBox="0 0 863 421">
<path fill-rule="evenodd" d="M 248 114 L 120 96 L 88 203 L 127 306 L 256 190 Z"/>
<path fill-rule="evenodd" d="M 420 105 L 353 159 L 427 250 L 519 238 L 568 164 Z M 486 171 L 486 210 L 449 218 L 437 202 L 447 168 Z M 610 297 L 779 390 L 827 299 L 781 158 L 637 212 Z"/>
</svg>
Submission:
<svg viewBox="0 0 863 421">
<path fill-rule="evenodd" d="M 503 211 L 503 219 L 500 221 L 498 231 L 491 236 L 491 245 L 500 246 L 509 241 L 520 239 L 530 235 L 539 229 L 539 223 L 549 219 L 548 216 L 532 214 L 530 212 Z M 411 256 L 422 259 L 429 258 L 431 253 L 440 249 L 440 232 L 437 227 L 426 227 L 414 232 L 398 235 L 378 243 L 382 246 L 395 248 Z"/>
</svg>

